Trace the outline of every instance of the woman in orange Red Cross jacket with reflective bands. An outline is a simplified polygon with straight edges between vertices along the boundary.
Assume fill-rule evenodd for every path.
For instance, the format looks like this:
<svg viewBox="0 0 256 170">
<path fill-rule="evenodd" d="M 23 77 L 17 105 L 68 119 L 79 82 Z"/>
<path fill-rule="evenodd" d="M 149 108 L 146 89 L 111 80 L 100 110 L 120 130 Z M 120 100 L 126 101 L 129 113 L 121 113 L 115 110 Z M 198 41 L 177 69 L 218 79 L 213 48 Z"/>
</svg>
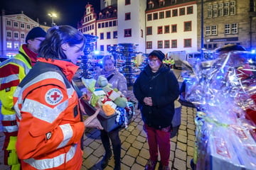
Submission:
<svg viewBox="0 0 256 170">
<path fill-rule="evenodd" d="M 38 62 L 14 93 L 16 150 L 23 170 L 81 168 L 85 125 L 72 79 L 84 47 L 85 37 L 75 28 L 50 28 Z"/>
</svg>

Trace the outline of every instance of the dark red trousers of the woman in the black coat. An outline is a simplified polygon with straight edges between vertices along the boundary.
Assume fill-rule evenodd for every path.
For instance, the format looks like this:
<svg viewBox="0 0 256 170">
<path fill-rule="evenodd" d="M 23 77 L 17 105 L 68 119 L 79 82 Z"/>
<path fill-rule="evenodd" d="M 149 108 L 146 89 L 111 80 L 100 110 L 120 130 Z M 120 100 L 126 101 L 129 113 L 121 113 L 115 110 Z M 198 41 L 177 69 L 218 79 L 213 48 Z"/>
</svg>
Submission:
<svg viewBox="0 0 256 170">
<path fill-rule="evenodd" d="M 159 150 L 161 165 L 168 166 L 171 149 L 171 126 L 158 130 L 156 128 L 151 128 L 148 125 L 144 124 L 144 130 L 146 132 L 149 143 L 149 154 L 151 161 L 157 161 Z"/>
</svg>

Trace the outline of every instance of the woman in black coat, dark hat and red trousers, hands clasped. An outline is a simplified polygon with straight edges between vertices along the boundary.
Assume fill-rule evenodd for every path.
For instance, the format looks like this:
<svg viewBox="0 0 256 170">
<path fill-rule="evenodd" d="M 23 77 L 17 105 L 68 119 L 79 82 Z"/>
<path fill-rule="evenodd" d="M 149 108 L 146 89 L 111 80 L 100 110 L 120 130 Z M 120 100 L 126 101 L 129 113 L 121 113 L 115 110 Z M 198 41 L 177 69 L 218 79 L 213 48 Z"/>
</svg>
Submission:
<svg viewBox="0 0 256 170">
<path fill-rule="evenodd" d="M 163 64 L 164 53 L 154 50 L 149 53 L 149 64 L 134 82 L 134 96 L 144 121 L 144 130 L 149 142 L 150 158 L 145 170 L 154 170 L 158 159 L 159 169 L 169 170 L 171 120 L 174 117 L 174 101 L 179 87 L 174 72 Z"/>
</svg>

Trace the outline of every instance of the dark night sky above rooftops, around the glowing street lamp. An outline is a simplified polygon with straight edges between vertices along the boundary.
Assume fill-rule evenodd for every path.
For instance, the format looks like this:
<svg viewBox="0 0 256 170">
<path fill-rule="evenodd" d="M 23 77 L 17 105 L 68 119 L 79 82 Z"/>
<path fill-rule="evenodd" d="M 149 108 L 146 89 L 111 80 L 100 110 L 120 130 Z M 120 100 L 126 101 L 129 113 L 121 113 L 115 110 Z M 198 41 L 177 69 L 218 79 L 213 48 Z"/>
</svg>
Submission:
<svg viewBox="0 0 256 170">
<path fill-rule="evenodd" d="M 4 0 L 0 3 L 0 8 L 6 14 L 17 14 L 23 11 L 26 16 L 48 26 L 52 23 L 52 18 L 48 13 L 55 12 L 57 18 L 54 23 L 57 25 L 70 25 L 77 28 L 77 23 L 85 12 L 85 5 L 90 3 L 95 11 L 100 10 L 100 0 Z"/>
</svg>

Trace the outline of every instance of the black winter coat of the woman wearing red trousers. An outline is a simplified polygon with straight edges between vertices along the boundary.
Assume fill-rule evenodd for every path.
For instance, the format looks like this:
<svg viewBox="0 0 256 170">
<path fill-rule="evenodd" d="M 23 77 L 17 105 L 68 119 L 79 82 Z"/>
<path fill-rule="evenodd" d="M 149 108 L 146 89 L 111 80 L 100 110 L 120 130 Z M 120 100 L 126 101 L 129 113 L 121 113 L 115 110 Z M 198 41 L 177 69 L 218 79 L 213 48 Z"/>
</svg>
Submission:
<svg viewBox="0 0 256 170">
<path fill-rule="evenodd" d="M 178 98 L 178 81 L 174 72 L 164 64 L 156 73 L 147 65 L 134 83 L 134 96 L 139 101 L 142 120 L 150 127 L 161 129 L 171 125 L 174 101 Z M 151 97 L 153 106 L 146 106 L 143 99 Z"/>
</svg>

